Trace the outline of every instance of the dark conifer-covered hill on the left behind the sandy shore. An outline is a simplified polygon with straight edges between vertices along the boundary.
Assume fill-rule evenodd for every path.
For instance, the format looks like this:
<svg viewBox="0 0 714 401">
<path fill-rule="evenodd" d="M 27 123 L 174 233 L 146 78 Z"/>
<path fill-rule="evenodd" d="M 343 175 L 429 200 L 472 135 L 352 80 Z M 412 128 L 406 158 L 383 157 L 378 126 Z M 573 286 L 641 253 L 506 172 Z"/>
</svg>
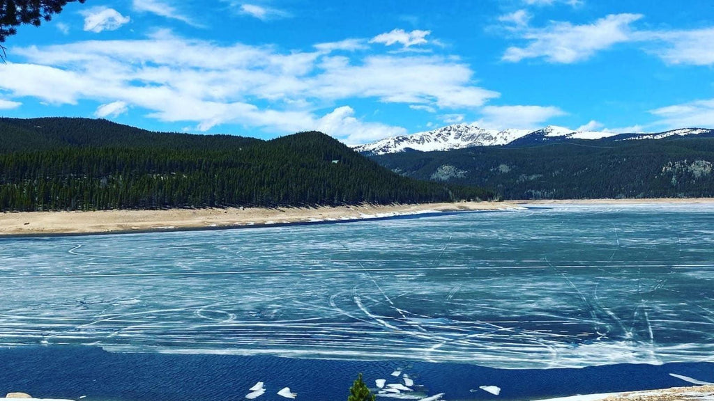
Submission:
<svg viewBox="0 0 714 401">
<path fill-rule="evenodd" d="M 399 176 L 317 132 L 272 141 L 84 118 L 0 119 L 0 210 L 426 203 L 479 188 Z"/>
</svg>

